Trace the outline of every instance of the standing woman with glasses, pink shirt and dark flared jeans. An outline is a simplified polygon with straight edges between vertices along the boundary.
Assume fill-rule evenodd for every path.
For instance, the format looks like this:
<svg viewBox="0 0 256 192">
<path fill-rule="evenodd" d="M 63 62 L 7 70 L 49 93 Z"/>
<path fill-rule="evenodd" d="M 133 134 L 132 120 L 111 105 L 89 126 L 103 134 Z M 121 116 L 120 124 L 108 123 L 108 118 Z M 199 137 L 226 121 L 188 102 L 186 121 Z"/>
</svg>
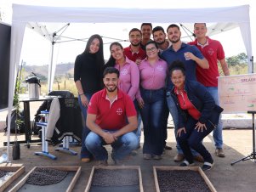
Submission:
<svg viewBox="0 0 256 192">
<path fill-rule="evenodd" d="M 139 65 L 140 92 L 137 94 L 144 125 L 143 157 L 146 160 L 160 160 L 164 146 L 162 115 L 168 65 L 158 57 L 156 42 L 147 42 L 145 51 L 147 58 Z"/>
</svg>

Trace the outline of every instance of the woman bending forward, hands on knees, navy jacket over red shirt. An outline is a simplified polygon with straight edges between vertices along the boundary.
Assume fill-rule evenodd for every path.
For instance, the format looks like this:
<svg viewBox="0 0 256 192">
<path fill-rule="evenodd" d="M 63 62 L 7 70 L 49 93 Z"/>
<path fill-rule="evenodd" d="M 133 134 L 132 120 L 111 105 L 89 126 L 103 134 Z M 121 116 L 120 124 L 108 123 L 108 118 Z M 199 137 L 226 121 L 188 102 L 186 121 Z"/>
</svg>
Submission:
<svg viewBox="0 0 256 192">
<path fill-rule="evenodd" d="M 169 67 L 174 88 L 171 96 L 179 111 L 177 141 L 185 155 L 180 167 L 192 166 L 191 148 L 204 159 L 202 170 L 213 167 L 213 157 L 202 144 L 202 139 L 217 127 L 222 108 L 215 104 L 208 90 L 199 82 L 185 81 L 185 65 L 174 61 Z"/>
</svg>

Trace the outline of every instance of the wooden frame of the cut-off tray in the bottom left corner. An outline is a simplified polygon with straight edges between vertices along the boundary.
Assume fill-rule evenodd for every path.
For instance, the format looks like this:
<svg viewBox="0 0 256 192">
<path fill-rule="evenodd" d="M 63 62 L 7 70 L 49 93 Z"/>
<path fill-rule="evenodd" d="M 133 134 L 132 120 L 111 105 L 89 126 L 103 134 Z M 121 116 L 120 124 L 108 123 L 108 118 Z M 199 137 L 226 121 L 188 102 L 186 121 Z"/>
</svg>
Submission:
<svg viewBox="0 0 256 192">
<path fill-rule="evenodd" d="M 3 191 L 6 189 L 10 184 L 14 182 L 16 178 L 19 178 L 20 175 L 25 172 L 25 167 L 0 167 L 0 170 L 5 172 L 14 172 L 14 174 L 6 181 L 3 182 L 3 184 L 0 186 L 0 191 Z"/>
</svg>

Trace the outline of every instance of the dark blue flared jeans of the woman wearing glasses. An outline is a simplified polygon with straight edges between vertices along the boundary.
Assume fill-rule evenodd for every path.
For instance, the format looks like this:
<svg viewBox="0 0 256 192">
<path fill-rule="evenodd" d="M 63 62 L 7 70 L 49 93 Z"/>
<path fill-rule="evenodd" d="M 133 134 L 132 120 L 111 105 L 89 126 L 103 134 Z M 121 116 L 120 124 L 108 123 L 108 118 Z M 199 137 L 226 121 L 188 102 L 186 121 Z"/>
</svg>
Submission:
<svg viewBox="0 0 256 192">
<path fill-rule="evenodd" d="M 164 107 L 164 89 L 146 90 L 140 88 L 144 100 L 141 109 L 141 117 L 144 126 L 143 153 L 151 155 L 162 155 L 162 115 Z"/>
</svg>

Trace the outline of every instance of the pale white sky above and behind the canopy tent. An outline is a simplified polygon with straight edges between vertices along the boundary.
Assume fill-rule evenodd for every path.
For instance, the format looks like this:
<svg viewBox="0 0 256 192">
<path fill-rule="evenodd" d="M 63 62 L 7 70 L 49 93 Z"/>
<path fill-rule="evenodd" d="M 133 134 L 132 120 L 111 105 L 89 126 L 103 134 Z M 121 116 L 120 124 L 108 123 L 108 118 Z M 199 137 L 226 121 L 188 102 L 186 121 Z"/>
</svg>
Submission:
<svg viewBox="0 0 256 192">
<path fill-rule="evenodd" d="M 251 34 L 252 34 L 252 44 L 253 44 L 253 55 L 256 55 L 256 3 L 253 0 L 215 0 L 213 2 L 203 1 L 203 0 L 180 0 L 180 1 L 170 1 L 170 0 L 160 0 L 160 1 L 138 1 L 138 0 L 94 0 L 94 1 L 78 1 L 78 0 L 0 0 L 0 8 L 4 11 L 4 20 L 6 22 L 11 22 L 11 3 L 24 3 L 24 4 L 33 4 L 33 5 L 48 5 L 48 6 L 73 6 L 73 7 L 144 7 L 147 8 L 162 8 L 165 5 L 168 5 L 170 8 L 207 8 L 207 7 L 227 7 L 227 6 L 236 6 L 241 4 L 250 4 L 251 10 Z M 146 3 L 146 5 L 145 5 Z M 128 31 L 133 28 L 139 28 L 140 24 L 133 25 L 117 25 L 116 27 L 122 27 L 122 32 L 116 34 L 108 34 L 107 28 L 108 26 L 103 27 L 105 34 L 102 36 L 105 37 L 117 37 L 121 39 L 128 39 Z M 156 24 L 153 24 L 153 26 Z M 159 24 L 161 25 L 161 24 Z M 167 24 L 163 25 L 163 28 L 166 28 Z M 94 31 L 91 31 L 92 34 L 100 33 L 98 31 L 102 31 L 102 27 L 97 29 L 94 27 Z M 84 34 L 84 37 L 89 37 L 92 34 Z M 245 52 L 245 48 L 242 42 L 242 36 L 238 28 L 232 31 L 227 31 L 221 33 L 219 35 L 215 35 L 212 38 L 219 40 L 224 48 L 226 57 L 240 54 Z M 32 40 L 32 41 L 31 41 Z M 105 39 L 107 42 L 107 40 Z M 37 42 L 37 43 L 35 43 Z M 128 46 L 128 42 L 122 42 L 123 47 Z M 51 44 L 43 37 L 37 35 L 37 33 L 31 31 L 30 29 L 26 29 L 26 35 L 23 41 L 23 48 L 21 52 L 20 59 L 26 61 L 27 65 L 47 65 L 50 62 L 50 47 Z M 76 58 L 77 54 L 82 53 L 85 48 L 85 42 L 65 42 L 60 44 L 55 44 L 54 53 L 57 56 L 57 64 L 64 62 L 73 62 Z M 105 45 L 105 59 L 109 57 L 109 44 Z"/>
</svg>

